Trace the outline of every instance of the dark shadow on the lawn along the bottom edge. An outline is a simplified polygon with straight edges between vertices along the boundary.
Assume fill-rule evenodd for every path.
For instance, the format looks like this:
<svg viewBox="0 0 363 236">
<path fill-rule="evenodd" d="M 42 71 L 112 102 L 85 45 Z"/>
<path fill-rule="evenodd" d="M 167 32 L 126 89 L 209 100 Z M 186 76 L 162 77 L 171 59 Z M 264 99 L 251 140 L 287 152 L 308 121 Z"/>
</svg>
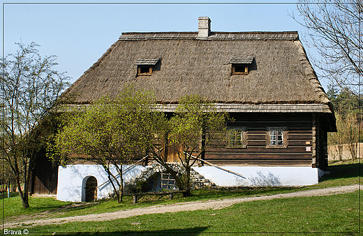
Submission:
<svg viewBox="0 0 363 236">
<path fill-rule="evenodd" d="M 56 233 L 56 235 L 70 235 L 70 236 L 82 236 L 82 235 L 107 235 L 107 236 L 113 236 L 113 235 L 200 235 L 205 230 L 207 230 L 208 227 L 195 227 L 195 228 L 182 228 L 182 229 L 172 229 L 172 230 L 155 230 L 155 231 L 149 231 L 149 230 L 143 230 L 143 231 L 119 231 L 119 232 L 110 232 L 110 233 Z"/>
</svg>

